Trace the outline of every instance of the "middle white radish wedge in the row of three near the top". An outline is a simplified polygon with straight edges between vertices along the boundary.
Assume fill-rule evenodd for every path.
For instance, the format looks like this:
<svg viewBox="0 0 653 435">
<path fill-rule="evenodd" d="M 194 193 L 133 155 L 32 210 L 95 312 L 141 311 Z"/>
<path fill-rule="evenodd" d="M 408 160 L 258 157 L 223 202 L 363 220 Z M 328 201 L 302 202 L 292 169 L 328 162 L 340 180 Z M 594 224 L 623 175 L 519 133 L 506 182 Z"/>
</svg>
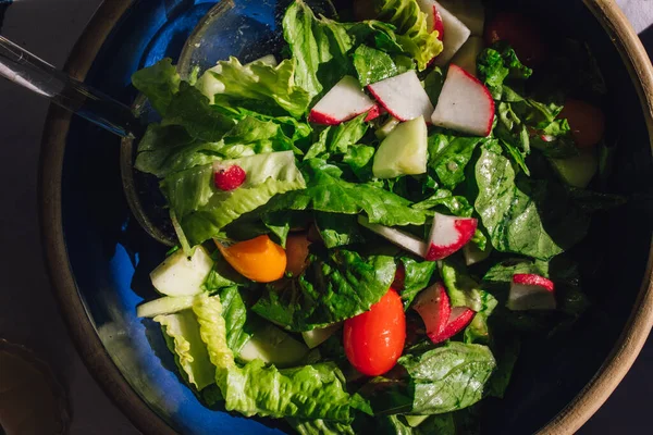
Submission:
<svg viewBox="0 0 653 435">
<path fill-rule="evenodd" d="M 433 113 L 433 104 L 414 70 L 371 84 L 368 89 L 377 101 L 399 121 L 410 121 L 419 116 L 430 120 Z"/>
</svg>

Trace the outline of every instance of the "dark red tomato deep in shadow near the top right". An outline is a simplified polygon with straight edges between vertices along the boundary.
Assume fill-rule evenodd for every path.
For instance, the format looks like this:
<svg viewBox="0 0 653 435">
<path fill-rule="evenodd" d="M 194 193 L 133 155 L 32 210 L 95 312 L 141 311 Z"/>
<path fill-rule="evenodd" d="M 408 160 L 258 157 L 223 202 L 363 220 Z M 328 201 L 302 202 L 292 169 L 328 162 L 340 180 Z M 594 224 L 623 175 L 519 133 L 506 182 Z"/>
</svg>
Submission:
<svg viewBox="0 0 653 435">
<path fill-rule="evenodd" d="M 542 42 L 539 26 L 515 12 L 500 12 L 485 25 L 485 44 L 498 40 L 508 42 L 525 65 L 534 66 L 546 58 L 547 48 Z"/>
</svg>

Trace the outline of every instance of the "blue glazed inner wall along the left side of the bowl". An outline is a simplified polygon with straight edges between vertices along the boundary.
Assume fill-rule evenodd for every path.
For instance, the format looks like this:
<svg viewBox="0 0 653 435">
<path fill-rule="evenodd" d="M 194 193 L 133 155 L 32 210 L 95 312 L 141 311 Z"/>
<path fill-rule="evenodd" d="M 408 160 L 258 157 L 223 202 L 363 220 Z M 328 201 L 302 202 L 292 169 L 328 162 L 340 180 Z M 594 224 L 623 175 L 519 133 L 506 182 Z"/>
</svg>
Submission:
<svg viewBox="0 0 653 435">
<path fill-rule="evenodd" d="M 136 1 L 104 42 L 86 82 L 131 103 L 131 75 L 170 57 L 174 61 L 198 21 L 215 1 Z M 273 30 L 269 3 L 241 2 L 243 20 L 260 37 Z M 269 32 L 270 32 L 269 30 Z M 224 53 L 238 55 L 238 50 Z M 136 307 L 158 297 L 149 272 L 165 247 L 151 240 L 131 217 L 122 192 L 120 140 L 73 119 L 62 179 L 62 217 L 70 264 L 89 318 L 108 353 L 134 390 L 184 434 L 281 434 L 251 419 L 205 407 L 177 374 L 161 330 L 136 318 Z M 81 320 L 82 321 L 82 320 Z"/>
</svg>

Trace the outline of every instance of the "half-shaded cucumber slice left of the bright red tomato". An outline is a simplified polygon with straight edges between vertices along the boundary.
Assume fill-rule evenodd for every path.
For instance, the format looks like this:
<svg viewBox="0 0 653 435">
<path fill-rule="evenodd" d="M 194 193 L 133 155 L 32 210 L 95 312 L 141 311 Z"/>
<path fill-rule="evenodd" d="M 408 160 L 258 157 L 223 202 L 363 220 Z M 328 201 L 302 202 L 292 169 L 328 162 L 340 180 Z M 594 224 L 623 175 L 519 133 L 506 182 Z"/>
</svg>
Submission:
<svg viewBox="0 0 653 435">
<path fill-rule="evenodd" d="M 276 366 L 292 366 L 304 360 L 308 348 L 276 326 L 266 324 L 243 346 L 238 359 L 261 360 Z"/>
</svg>

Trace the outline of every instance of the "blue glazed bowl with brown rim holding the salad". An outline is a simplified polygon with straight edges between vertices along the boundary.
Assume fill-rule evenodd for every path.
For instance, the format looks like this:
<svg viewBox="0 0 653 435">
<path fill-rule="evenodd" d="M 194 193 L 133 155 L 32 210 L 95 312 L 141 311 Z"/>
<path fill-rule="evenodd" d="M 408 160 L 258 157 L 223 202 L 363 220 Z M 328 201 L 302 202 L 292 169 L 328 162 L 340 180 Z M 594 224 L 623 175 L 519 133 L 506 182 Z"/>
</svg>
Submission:
<svg viewBox="0 0 653 435">
<path fill-rule="evenodd" d="M 136 98 L 132 73 L 163 57 L 176 60 L 214 3 L 107 1 L 73 50 L 66 71 L 131 104 Z M 251 33 L 248 41 L 279 40 L 276 1 L 236 3 L 241 23 Z M 516 3 L 526 9 L 532 4 L 531 13 L 550 13 L 538 8 L 554 8 L 551 3 L 556 1 Z M 646 123 L 653 123 L 650 109 L 642 111 L 644 100 L 639 96 L 643 85 L 651 89 L 653 82 L 643 49 L 618 13 L 607 7 L 608 0 L 587 1 L 589 8 L 581 1 L 557 3 L 557 11 L 567 11 L 558 13 L 559 28 L 590 42 L 613 90 L 609 107 L 616 109 L 608 114 L 613 126 L 608 135 L 620 136 L 613 190 L 630 194 L 639 186 L 641 192 L 651 195 L 653 163 Z M 224 57 L 247 61 L 254 55 L 244 44 L 222 48 Z M 638 64 L 644 70 L 632 75 Z M 648 104 L 653 107 L 651 101 Z M 62 312 L 91 373 L 144 433 L 283 433 L 271 421 L 244 419 L 201 405 L 176 373 L 159 326 L 136 318 L 136 306 L 157 296 L 148 275 L 167 248 L 150 239 L 130 213 L 122 189 L 120 147 L 120 139 L 107 132 L 58 108 L 50 110 L 40 179 L 46 258 Z M 590 238 L 578 248 L 582 254 L 601 256 L 605 265 L 583 271 L 592 310 L 564 337 L 544 346 L 525 346 L 505 399 L 488 402 L 485 433 L 574 432 L 624 376 L 652 321 L 653 291 L 651 272 L 646 272 L 653 231 L 650 209 L 631 203 L 594 222 Z M 619 231 L 606 233 L 606 227 Z M 618 298 L 615 288 L 619 288 Z M 636 301 L 640 310 L 629 319 Z"/>
</svg>

